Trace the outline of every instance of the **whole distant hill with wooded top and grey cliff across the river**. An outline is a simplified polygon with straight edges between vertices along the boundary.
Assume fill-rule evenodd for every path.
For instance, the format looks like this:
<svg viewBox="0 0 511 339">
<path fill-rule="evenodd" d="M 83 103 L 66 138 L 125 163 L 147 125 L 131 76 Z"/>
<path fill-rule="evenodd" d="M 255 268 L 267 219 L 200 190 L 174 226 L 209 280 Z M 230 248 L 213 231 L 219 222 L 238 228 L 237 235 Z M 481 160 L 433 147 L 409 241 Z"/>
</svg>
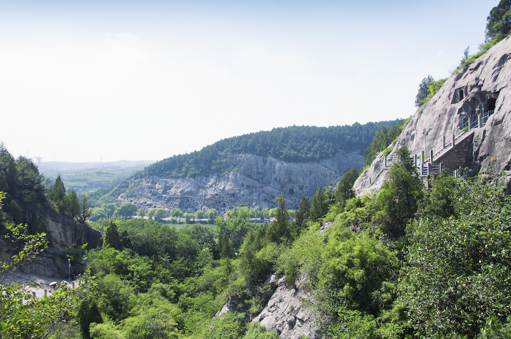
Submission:
<svg viewBox="0 0 511 339">
<path fill-rule="evenodd" d="M 195 211 L 235 206 L 288 208 L 319 187 L 335 185 L 348 169 L 364 164 L 363 151 L 381 126 L 400 120 L 334 127 L 293 126 L 220 140 L 200 151 L 161 160 L 114 192 L 138 207 Z"/>
</svg>

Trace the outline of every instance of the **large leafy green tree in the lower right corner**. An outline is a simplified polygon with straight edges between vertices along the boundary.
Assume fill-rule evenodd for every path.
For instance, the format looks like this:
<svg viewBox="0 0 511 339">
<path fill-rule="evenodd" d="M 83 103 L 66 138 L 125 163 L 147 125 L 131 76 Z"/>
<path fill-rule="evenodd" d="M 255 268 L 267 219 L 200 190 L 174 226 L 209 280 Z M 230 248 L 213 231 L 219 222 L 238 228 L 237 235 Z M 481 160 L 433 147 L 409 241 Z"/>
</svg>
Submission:
<svg viewBox="0 0 511 339">
<path fill-rule="evenodd" d="M 417 336 L 473 338 L 511 316 L 511 198 L 499 181 L 482 173 L 449 183 L 456 213 L 413 227 L 398 302 Z"/>
</svg>

